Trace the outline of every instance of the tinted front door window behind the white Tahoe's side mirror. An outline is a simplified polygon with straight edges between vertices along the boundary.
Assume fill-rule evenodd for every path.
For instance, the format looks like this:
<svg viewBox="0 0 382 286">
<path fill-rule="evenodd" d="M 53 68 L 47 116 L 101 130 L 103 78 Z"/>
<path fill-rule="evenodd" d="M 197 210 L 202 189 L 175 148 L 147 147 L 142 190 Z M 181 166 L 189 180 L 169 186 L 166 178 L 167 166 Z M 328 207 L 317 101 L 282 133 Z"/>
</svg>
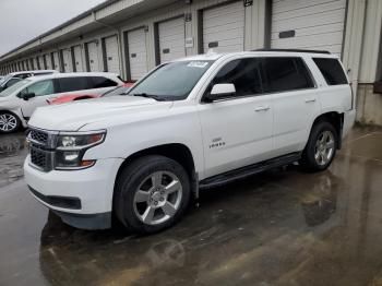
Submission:
<svg viewBox="0 0 382 286">
<path fill-rule="evenodd" d="M 259 59 L 239 59 L 228 62 L 216 74 L 210 91 L 214 84 L 232 83 L 236 88 L 236 96 L 262 93 L 259 65 Z"/>
</svg>

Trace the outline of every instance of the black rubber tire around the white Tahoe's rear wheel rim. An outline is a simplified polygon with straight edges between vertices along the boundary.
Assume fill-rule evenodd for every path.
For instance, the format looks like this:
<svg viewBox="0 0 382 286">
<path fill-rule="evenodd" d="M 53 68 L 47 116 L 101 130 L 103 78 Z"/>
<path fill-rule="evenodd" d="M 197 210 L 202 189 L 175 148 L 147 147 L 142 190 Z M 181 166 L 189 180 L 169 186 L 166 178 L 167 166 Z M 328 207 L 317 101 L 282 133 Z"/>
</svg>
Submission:
<svg viewBox="0 0 382 286">
<path fill-rule="evenodd" d="M 315 157 L 315 154 L 318 151 L 317 144 L 319 144 L 318 141 L 320 139 L 322 139 L 321 136 L 323 134 L 329 134 L 325 132 L 329 132 L 330 134 L 333 135 L 333 150 L 332 150 L 331 156 L 327 156 L 329 158 L 321 160 L 319 158 L 317 159 L 317 157 Z M 332 162 L 335 157 L 337 146 L 338 146 L 338 134 L 337 134 L 337 131 L 335 130 L 335 128 L 333 127 L 333 124 L 331 124 L 327 121 L 318 121 L 312 127 L 308 143 L 302 152 L 302 157 L 301 157 L 300 164 L 308 171 L 325 170 L 332 164 Z M 319 157 L 321 158 L 321 156 L 319 156 Z"/>
</svg>

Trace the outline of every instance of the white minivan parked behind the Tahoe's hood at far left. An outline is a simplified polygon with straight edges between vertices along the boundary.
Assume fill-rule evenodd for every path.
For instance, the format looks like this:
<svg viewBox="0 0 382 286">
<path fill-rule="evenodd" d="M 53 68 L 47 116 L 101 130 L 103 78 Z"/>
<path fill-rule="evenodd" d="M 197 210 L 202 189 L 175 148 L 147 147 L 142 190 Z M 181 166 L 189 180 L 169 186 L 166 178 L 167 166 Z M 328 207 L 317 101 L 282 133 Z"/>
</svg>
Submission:
<svg viewBox="0 0 382 286">
<path fill-rule="evenodd" d="M 26 127 L 37 107 L 73 92 L 103 94 L 123 82 L 117 74 L 105 72 L 55 73 L 22 80 L 0 93 L 0 133 Z"/>
</svg>

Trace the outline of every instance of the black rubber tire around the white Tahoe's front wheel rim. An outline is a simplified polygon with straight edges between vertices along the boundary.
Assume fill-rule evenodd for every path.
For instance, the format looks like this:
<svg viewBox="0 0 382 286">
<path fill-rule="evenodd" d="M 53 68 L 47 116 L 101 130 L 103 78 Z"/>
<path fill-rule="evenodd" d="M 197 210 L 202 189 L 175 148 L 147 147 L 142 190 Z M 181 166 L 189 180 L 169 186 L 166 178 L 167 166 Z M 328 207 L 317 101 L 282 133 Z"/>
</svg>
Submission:
<svg viewBox="0 0 382 286">
<path fill-rule="evenodd" d="M 181 189 L 180 191 L 178 191 L 180 193 L 180 199 L 177 196 L 176 198 L 177 203 L 172 204 L 172 205 L 178 205 L 178 208 L 176 210 L 175 214 L 172 216 L 169 216 L 169 218 L 167 218 L 167 221 L 163 223 L 157 223 L 155 225 L 152 225 L 152 224 L 144 223 L 142 217 L 140 217 L 141 213 L 139 212 L 138 208 L 141 205 L 139 204 L 144 204 L 143 210 L 147 211 L 148 207 L 154 207 L 154 208 L 159 207 L 159 206 L 153 205 L 153 203 L 155 202 L 159 204 L 164 202 L 165 203 L 170 202 L 169 196 L 171 195 L 167 193 L 164 194 L 166 195 L 166 199 L 160 198 L 160 200 L 163 200 L 164 202 L 159 202 L 157 201 L 158 200 L 157 198 L 155 199 L 155 195 L 158 194 L 159 191 L 155 191 L 154 194 L 150 191 L 153 188 L 155 188 L 154 181 L 152 180 L 153 179 L 152 176 L 153 174 L 157 174 L 157 172 L 164 172 L 163 175 L 164 179 L 160 179 L 162 180 L 160 184 L 163 183 L 163 180 L 165 180 L 166 182 L 166 179 L 170 178 L 167 176 L 167 174 L 170 174 L 176 176 L 176 178 L 178 179 L 178 180 L 174 180 L 172 182 L 179 182 L 181 186 Z M 153 183 L 152 187 L 148 186 L 150 181 L 152 181 Z M 147 200 L 150 200 L 150 203 L 146 201 L 142 203 L 136 203 L 136 200 L 134 199 L 135 194 L 139 192 L 139 189 L 143 188 L 143 186 L 141 187 L 142 183 L 143 186 L 147 184 L 146 188 L 147 188 L 147 192 L 150 193 L 150 196 Z M 177 192 L 177 195 L 179 195 L 178 192 Z M 153 200 L 154 202 L 152 202 Z M 128 228 L 128 230 L 136 234 L 154 234 L 165 228 L 168 228 L 172 226 L 175 223 L 177 223 L 180 219 L 180 217 L 183 215 L 184 211 L 187 210 L 189 201 L 190 201 L 190 179 L 184 168 L 174 159 L 170 159 L 164 156 L 150 155 L 132 162 L 121 170 L 120 175 L 117 178 L 117 182 L 115 187 L 114 211 L 117 218 Z M 159 208 L 155 208 L 155 210 L 159 210 Z M 167 215 L 166 212 L 162 208 L 160 211 L 154 211 L 154 216 L 155 214 L 159 214 L 159 216 L 164 215 L 164 217 Z"/>
</svg>

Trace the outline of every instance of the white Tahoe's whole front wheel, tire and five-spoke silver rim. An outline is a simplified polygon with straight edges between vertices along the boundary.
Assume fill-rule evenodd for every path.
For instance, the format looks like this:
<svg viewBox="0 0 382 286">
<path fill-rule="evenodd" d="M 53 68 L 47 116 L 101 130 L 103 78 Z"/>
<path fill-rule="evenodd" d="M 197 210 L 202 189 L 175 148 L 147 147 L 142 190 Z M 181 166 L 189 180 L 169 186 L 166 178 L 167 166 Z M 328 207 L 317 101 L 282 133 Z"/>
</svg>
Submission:
<svg viewBox="0 0 382 286">
<path fill-rule="evenodd" d="M 189 200 L 190 182 L 183 167 L 167 157 L 145 156 L 121 171 L 114 206 L 127 228 L 153 234 L 178 222 Z"/>
</svg>

